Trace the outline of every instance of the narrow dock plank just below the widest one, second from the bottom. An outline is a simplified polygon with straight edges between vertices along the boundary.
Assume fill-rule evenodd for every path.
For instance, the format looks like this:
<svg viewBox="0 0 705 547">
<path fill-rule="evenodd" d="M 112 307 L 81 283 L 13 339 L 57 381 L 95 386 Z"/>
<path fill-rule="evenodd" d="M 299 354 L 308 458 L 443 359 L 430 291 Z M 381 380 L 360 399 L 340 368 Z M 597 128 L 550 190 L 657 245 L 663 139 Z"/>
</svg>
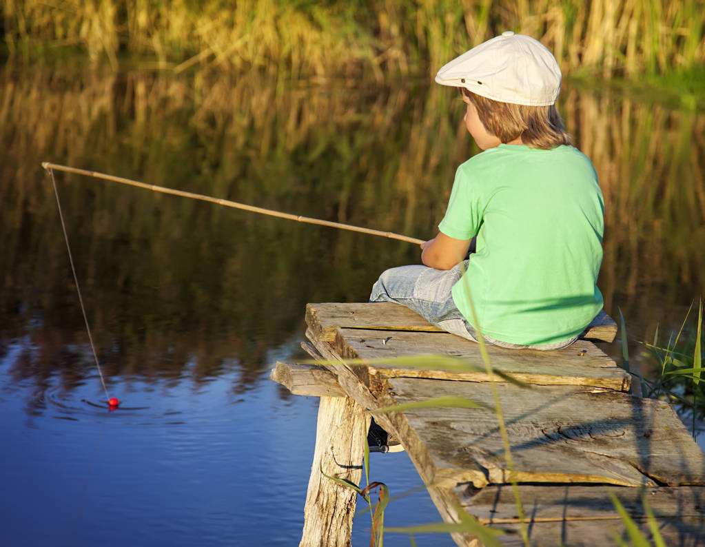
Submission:
<svg viewBox="0 0 705 547">
<path fill-rule="evenodd" d="M 461 505 L 483 524 L 506 524 L 519 520 L 510 485 L 486 486 L 480 491 L 458 486 L 454 490 Z M 521 484 L 518 491 L 527 517 L 532 522 L 619 519 L 610 494 L 618 497 L 633 519 L 646 518 L 644 497 L 656 520 L 705 515 L 705 488 L 702 486 L 625 488 Z"/>
</svg>

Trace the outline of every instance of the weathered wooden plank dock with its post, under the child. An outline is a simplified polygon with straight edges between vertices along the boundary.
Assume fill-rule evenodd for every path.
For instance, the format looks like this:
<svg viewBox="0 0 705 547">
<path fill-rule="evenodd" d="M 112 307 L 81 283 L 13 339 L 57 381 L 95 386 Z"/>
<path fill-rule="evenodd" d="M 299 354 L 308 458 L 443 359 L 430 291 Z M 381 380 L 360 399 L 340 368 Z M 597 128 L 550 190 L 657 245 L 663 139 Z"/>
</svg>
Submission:
<svg viewBox="0 0 705 547">
<path fill-rule="evenodd" d="M 512 533 L 520 525 L 515 481 L 532 545 L 615 544 L 614 533 L 623 535 L 624 526 L 610 493 L 647 536 L 644 495 L 668 546 L 705 545 L 705 456 L 673 409 L 630 395 L 630 374 L 593 343 L 613 340 L 611 319 L 591 325 L 563 350 L 489 346 L 498 374 L 487 374 L 478 344 L 439 331 L 400 305 L 309 304 L 306 321 L 309 341 L 302 347 L 322 363 L 280 362 L 271 372 L 292 393 L 321 399 L 301 546 L 350 545 L 357 494 L 321 472 L 360 483 L 371 414 L 401 441 L 446 522 L 460 522 L 466 511 L 505 530 L 501 543 L 522 545 Z M 477 368 L 384 362 L 429 354 L 462 357 Z M 493 387 L 513 471 L 491 410 Z M 448 395 L 484 406 L 374 412 Z M 467 534 L 453 539 L 481 544 Z"/>
</svg>

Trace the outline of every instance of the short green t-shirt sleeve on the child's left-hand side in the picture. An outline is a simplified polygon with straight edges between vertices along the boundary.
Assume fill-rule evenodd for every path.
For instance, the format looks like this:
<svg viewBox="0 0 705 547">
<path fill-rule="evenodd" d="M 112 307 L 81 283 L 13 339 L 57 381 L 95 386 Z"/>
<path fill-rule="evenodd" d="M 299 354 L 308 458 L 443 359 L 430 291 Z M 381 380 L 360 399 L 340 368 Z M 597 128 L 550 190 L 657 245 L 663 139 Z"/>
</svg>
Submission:
<svg viewBox="0 0 705 547">
<path fill-rule="evenodd" d="M 455 171 L 446 216 L 443 216 L 439 230 L 450 238 L 465 240 L 477 235 L 481 223 L 482 207 L 477 188 L 467 176 L 467 171 L 460 166 Z"/>
</svg>

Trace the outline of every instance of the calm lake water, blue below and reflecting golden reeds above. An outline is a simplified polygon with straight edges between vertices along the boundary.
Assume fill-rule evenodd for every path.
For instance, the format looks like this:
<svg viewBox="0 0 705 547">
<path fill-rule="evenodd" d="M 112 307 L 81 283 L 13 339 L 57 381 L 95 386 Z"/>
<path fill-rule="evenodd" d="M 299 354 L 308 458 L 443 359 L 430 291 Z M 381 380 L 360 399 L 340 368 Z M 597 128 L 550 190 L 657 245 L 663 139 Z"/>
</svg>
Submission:
<svg viewBox="0 0 705 547">
<path fill-rule="evenodd" d="M 658 324 L 665 343 L 705 287 L 705 116 L 570 85 L 560 108 L 606 199 L 606 310 L 623 310 L 650 374 L 639 340 Z M 477 153 L 461 117 L 452 92 L 418 83 L 4 68 L 0 543 L 298 543 L 317 400 L 269 369 L 305 357 L 307 302 L 367 300 L 381 271 L 419 259 L 406 243 L 59 174 L 123 400 L 108 412 L 42 161 L 429 238 Z M 372 479 L 404 494 L 386 524 L 439 520 L 405 454 L 373 455 Z M 367 534 L 360 515 L 355 545 Z"/>
</svg>

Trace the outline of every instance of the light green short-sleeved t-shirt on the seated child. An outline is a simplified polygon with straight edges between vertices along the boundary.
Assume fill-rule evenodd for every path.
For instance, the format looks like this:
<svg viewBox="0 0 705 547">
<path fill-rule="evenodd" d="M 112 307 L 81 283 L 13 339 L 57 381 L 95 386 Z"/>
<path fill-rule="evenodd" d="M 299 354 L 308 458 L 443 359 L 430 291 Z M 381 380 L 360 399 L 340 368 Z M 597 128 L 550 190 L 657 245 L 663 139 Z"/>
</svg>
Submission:
<svg viewBox="0 0 705 547">
<path fill-rule="evenodd" d="M 579 335 L 602 308 L 603 211 L 595 169 L 573 147 L 503 144 L 465 161 L 439 224 L 451 238 L 477 235 L 455 305 L 477 328 L 472 295 L 482 332 L 508 343 Z"/>
</svg>

